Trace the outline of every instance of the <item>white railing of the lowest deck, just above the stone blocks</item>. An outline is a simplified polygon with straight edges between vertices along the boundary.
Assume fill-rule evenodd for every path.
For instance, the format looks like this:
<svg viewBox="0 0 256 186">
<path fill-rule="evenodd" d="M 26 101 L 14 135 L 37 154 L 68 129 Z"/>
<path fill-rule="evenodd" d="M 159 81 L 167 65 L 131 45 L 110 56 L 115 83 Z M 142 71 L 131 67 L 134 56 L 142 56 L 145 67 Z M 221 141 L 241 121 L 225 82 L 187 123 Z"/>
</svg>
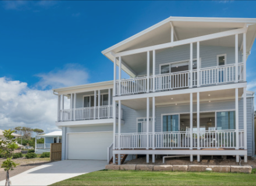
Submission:
<svg viewBox="0 0 256 186">
<path fill-rule="evenodd" d="M 155 149 L 189 149 L 189 148 L 236 148 L 236 137 L 239 138 L 239 148 L 244 148 L 244 130 L 214 130 L 214 131 L 177 131 L 155 133 Z M 192 136 L 191 136 L 192 135 Z M 152 148 L 152 133 L 126 133 L 120 135 L 121 149 Z M 118 149 L 119 135 L 116 134 L 115 148 Z M 199 141 L 199 143 L 198 143 Z"/>
</svg>

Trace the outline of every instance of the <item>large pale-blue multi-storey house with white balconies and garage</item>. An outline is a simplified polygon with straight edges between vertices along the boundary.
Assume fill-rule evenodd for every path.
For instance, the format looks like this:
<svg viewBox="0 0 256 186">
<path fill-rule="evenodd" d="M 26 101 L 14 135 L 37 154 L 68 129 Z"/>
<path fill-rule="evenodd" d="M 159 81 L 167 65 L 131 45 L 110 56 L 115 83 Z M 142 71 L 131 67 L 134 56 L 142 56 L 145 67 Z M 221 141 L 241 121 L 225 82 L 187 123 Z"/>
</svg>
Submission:
<svg viewBox="0 0 256 186">
<path fill-rule="evenodd" d="M 256 19 L 169 17 L 105 49 L 113 81 L 54 89 L 62 159 L 232 155 L 247 162 L 255 145 L 246 60 L 255 36 Z"/>
</svg>

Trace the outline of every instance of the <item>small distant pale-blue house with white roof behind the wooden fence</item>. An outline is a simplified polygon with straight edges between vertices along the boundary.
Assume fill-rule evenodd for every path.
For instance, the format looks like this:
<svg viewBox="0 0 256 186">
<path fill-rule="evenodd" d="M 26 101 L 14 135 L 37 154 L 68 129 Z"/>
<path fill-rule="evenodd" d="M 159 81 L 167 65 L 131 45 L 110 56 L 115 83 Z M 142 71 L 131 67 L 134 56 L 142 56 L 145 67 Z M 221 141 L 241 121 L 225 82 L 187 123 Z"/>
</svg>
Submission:
<svg viewBox="0 0 256 186">
<path fill-rule="evenodd" d="M 44 138 L 44 144 L 37 144 L 38 138 Z M 35 153 L 50 152 L 51 144 L 62 142 L 62 131 L 35 136 Z"/>
</svg>

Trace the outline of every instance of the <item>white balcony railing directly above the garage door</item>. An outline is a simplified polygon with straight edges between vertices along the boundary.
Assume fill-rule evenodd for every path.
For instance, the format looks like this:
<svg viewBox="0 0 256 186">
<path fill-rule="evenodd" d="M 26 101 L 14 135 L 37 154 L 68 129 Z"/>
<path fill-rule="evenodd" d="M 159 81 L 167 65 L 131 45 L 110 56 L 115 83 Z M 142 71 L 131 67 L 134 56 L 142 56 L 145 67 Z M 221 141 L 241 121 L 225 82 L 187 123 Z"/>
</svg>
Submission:
<svg viewBox="0 0 256 186">
<path fill-rule="evenodd" d="M 90 120 L 112 118 L 112 105 L 96 106 L 87 108 L 64 109 L 59 111 L 59 121 Z M 121 109 L 121 118 L 123 110 Z M 116 117 L 118 117 L 118 107 L 116 107 Z"/>
</svg>

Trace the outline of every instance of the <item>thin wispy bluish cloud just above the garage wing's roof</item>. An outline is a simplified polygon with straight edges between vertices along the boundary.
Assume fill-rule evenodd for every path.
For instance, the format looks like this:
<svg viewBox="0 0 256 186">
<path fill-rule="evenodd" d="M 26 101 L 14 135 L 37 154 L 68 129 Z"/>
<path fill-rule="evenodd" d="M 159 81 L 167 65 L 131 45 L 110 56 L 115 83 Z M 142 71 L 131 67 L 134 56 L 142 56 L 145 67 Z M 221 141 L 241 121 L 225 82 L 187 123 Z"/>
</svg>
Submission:
<svg viewBox="0 0 256 186">
<path fill-rule="evenodd" d="M 88 73 L 77 64 L 67 64 L 63 69 L 37 74 L 41 80 L 37 86 L 42 88 L 60 88 L 88 83 Z"/>
</svg>

